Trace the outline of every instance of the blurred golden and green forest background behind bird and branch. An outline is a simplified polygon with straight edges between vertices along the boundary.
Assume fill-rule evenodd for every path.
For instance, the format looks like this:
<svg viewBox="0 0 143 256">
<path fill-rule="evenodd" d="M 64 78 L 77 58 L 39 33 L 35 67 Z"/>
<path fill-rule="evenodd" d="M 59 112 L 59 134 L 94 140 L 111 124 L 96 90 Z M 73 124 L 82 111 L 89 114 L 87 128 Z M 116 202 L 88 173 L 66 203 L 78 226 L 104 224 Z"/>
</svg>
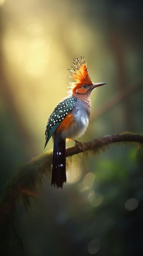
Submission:
<svg viewBox="0 0 143 256">
<path fill-rule="evenodd" d="M 46 122 L 66 95 L 73 58 L 84 56 L 92 81 L 107 83 L 92 93 L 80 140 L 143 132 L 142 7 L 138 0 L 0 0 L 1 196 L 18 168 L 44 152 Z M 52 147 L 51 139 L 45 150 Z M 115 144 L 84 168 L 81 155 L 62 190 L 45 180 L 31 214 L 18 206 L 26 255 L 142 255 L 137 153 L 137 144 Z"/>
</svg>

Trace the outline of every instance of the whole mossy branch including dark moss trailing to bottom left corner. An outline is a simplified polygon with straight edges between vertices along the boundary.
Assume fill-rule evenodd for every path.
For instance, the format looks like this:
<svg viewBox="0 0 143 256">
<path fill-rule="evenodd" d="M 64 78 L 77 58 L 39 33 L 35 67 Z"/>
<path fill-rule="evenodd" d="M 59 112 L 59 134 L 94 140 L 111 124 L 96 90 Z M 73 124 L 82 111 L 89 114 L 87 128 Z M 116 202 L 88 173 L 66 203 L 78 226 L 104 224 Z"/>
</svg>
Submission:
<svg viewBox="0 0 143 256">
<path fill-rule="evenodd" d="M 89 154 L 99 154 L 109 148 L 110 144 L 116 142 L 136 142 L 143 144 L 143 135 L 130 132 L 107 135 L 99 139 L 84 142 L 81 150 L 73 146 L 66 148 L 66 162 L 70 166 L 76 154 L 87 151 Z M 37 198 L 36 190 L 42 186 L 43 180 L 51 176 L 53 151 L 34 157 L 11 178 L 6 186 L 4 196 L 0 204 L 0 255 L 11 255 L 15 247 L 15 255 L 24 255 L 24 247 L 21 238 L 15 228 L 15 209 L 19 202 L 23 202 L 25 209 L 31 209 L 31 201 Z"/>
</svg>

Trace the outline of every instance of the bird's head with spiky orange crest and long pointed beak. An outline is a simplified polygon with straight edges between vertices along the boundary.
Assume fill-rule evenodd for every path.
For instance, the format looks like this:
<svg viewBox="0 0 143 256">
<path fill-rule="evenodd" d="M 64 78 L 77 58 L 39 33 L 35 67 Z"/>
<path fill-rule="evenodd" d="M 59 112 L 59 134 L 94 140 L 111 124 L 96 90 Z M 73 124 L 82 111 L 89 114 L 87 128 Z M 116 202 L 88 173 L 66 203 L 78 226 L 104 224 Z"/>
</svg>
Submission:
<svg viewBox="0 0 143 256">
<path fill-rule="evenodd" d="M 70 90 L 68 91 L 69 94 L 90 94 L 93 89 L 104 85 L 106 83 L 92 83 L 89 74 L 87 63 L 85 62 L 84 57 L 81 57 L 81 61 L 79 58 L 75 58 L 73 60 L 73 67 L 67 69 L 68 71 L 72 72 L 72 76 L 68 76 L 73 78 L 76 82 L 70 82 Z"/>
</svg>

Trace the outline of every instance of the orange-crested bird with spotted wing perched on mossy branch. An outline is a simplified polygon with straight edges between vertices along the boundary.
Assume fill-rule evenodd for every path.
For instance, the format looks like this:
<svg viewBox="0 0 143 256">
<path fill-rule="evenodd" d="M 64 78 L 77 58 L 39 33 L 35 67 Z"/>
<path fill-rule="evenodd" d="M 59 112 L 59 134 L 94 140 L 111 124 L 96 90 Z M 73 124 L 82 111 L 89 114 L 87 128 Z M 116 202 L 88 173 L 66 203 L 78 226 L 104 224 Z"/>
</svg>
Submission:
<svg viewBox="0 0 143 256">
<path fill-rule="evenodd" d="M 67 69 L 72 76 L 66 77 L 74 79 L 74 82 L 68 83 L 68 96 L 62 99 L 51 113 L 45 132 L 45 147 L 51 136 L 54 144 L 51 186 L 61 189 L 66 183 L 66 139 L 75 140 L 86 132 L 91 110 L 91 92 L 106 84 L 92 83 L 83 56 L 81 59 L 75 58 L 73 66 Z M 78 141 L 75 142 L 78 144 Z"/>
</svg>

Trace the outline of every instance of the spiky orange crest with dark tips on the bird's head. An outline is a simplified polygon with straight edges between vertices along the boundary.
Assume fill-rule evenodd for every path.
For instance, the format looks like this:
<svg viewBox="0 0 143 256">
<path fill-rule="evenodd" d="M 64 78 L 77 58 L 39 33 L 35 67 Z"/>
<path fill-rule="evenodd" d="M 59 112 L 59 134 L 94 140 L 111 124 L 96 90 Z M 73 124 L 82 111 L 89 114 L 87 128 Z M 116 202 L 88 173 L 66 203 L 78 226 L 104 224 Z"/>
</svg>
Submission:
<svg viewBox="0 0 143 256">
<path fill-rule="evenodd" d="M 85 62 L 84 57 L 81 57 L 81 61 L 79 60 L 79 58 L 75 58 L 73 60 L 73 65 L 75 66 L 75 68 L 70 67 L 70 69 L 67 69 L 72 72 L 72 76 L 68 77 L 73 78 L 76 81 L 68 83 L 71 84 L 69 93 L 74 93 L 83 84 L 86 84 L 88 86 L 92 85 L 92 81 L 88 74 L 87 63 Z"/>
</svg>

